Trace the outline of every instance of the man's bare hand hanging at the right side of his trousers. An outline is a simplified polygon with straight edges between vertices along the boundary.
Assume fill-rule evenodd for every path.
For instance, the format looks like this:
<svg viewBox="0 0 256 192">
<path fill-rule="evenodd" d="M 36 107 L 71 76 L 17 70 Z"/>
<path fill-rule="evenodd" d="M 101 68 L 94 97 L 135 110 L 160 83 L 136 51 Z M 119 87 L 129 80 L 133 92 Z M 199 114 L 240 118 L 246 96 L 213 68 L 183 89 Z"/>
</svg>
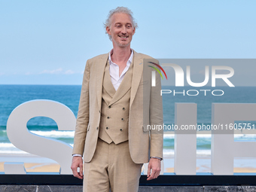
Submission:
<svg viewBox="0 0 256 192">
<path fill-rule="evenodd" d="M 147 181 L 157 178 L 161 171 L 161 160 L 157 158 L 151 158 L 148 163 L 148 178 Z"/>
</svg>

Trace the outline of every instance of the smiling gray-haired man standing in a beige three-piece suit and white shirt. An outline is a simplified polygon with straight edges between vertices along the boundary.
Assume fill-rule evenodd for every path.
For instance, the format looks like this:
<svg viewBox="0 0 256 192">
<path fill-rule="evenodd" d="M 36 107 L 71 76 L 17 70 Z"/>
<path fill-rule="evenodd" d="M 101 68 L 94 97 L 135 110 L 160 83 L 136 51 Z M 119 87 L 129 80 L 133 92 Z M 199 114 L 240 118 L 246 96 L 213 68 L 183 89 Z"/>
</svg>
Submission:
<svg viewBox="0 0 256 192">
<path fill-rule="evenodd" d="M 160 75 L 151 87 L 152 69 L 143 62 L 152 58 L 130 48 L 136 26 L 129 9 L 110 11 L 105 27 L 113 49 L 87 60 L 72 160 L 84 191 L 136 192 L 148 160 L 148 180 L 160 174 L 163 131 L 147 126 L 163 125 Z"/>
</svg>

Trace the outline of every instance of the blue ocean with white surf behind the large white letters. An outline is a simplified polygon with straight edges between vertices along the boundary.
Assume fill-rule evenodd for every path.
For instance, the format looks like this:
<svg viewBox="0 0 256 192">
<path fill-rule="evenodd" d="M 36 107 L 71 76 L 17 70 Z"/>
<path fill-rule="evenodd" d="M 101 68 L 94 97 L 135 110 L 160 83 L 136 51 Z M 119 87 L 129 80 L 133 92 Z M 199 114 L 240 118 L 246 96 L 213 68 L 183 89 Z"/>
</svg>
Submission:
<svg viewBox="0 0 256 192">
<path fill-rule="evenodd" d="M 197 87 L 162 87 L 163 90 L 172 90 L 172 93 L 163 94 L 163 120 L 164 124 L 174 123 L 175 102 L 197 103 L 197 123 L 211 124 L 212 102 L 222 103 L 256 103 L 256 87 L 218 87 L 223 90 L 223 96 L 213 96 L 211 91 L 205 93 Z M 213 89 L 214 88 L 214 89 Z M 217 90 L 217 87 L 203 87 L 204 90 Z M 175 96 L 173 92 L 175 90 Z M 184 95 L 183 92 L 184 90 Z M 188 96 L 187 90 L 198 90 L 197 96 Z M 33 99 L 50 99 L 68 106 L 75 116 L 78 114 L 78 104 L 81 85 L 0 85 L 0 155 L 1 154 L 26 154 L 20 151 L 8 139 L 6 124 L 11 111 L 23 102 Z M 179 93 L 177 93 L 179 92 Z M 195 94 L 194 92 L 193 94 Z M 192 92 L 190 92 L 192 94 Z M 217 94 L 217 92 L 216 92 Z M 255 122 L 252 122 L 255 124 Z M 40 136 L 59 139 L 73 145 L 74 131 L 58 131 L 54 120 L 48 117 L 34 117 L 27 123 L 29 131 Z M 254 135 L 235 135 L 238 140 L 256 141 Z M 211 154 L 211 135 L 197 135 L 197 155 L 208 156 Z M 163 154 L 174 154 L 174 135 L 169 132 L 164 135 Z"/>
</svg>

